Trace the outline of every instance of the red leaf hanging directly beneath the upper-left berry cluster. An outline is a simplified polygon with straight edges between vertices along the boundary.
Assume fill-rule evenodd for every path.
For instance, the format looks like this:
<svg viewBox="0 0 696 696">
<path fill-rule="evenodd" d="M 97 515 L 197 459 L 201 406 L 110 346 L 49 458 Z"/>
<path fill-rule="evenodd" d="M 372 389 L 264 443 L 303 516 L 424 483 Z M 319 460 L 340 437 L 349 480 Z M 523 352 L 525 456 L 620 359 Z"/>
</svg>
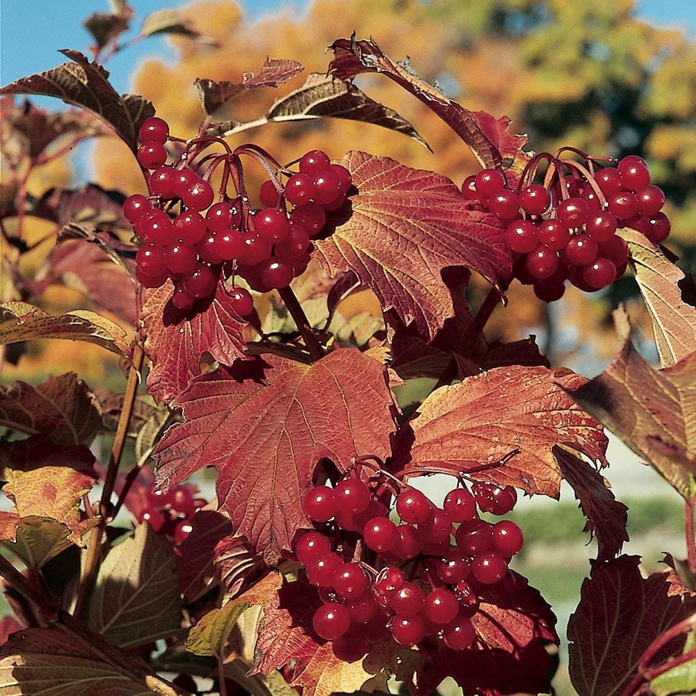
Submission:
<svg viewBox="0 0 696 696">
<path fill-rule="evenodd" d="M 140 313 L 145 354 L 152 361 L 148 391 L 158 402 L 175 399 L 200 374 L 204 352 L 231 365 L 246 348 L 248 324 L 232 310 L 221 284 L 207 308 L 196 313 L 177 310 L 172 292 L 171 280 L 156 290 L 144 290 Z"/>
</svg>

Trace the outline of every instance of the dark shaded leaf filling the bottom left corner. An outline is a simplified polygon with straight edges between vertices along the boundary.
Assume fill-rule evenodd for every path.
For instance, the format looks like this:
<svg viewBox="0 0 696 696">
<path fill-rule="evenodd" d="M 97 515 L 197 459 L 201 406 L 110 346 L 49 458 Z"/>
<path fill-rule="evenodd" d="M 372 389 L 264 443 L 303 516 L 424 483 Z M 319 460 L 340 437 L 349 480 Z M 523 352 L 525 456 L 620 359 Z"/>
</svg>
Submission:
<svg viewBox="0 0 696 696">
<path fill-rule="evenodd" d="M 87 631 L 62 624 L 22 628 L 0 647 L 0 691 L 17 696 L 148 696 L 184 694 L 142 661 Z M 167 690 L 163 690 L 166 688 Z"/>
</svg>

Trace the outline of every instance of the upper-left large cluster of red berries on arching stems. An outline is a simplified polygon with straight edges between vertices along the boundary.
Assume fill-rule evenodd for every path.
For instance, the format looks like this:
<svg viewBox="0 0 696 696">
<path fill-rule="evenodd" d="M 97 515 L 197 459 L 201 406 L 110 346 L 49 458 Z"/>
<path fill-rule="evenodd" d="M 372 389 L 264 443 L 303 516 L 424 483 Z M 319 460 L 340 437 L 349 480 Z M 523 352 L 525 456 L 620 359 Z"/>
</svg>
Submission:
<svg viewBox="0 0 696 696">
<path fill-rule="evenodd" d="M 311 239 L 322 234 L 327 217 L 347 200 L 351 175 L 331 164 L 320 150 L 299 160 L 299 172 L 277 168 L 287 175 L 262 184 L 262 207 L 251 207 L 242 184 L 237 148 L 231 152 L 217 138 L 194 139 L 184 156 L 166 164 L 166 142 L 173 139 L 166 121 L 152 117 L 140 129 L 138 161 L 150 170 L 149 196 L 129 196 L 123 212 L 143 245 L 136 253 L 136 277 L 145 287 L 160 287 L 172 278 L 172 302 L 191 310 L 215 292 L 219 278 L 241 276 L 259 292 L 286 287 L 301 275 L 310 260 Z M 226 152 L 200 157 L 209 145 Z M 248 154 L 248 150 L 247 150 Z M 254 155 L 260 157 L 258 148 Z M 215 201 L 209 178 L 222 166 L 223 186 Z M 205 170 L 205 171 L 204 171 Z M 226 183 L 235 181 L 232 198 Z M 239 184 L 239 185 L 238 185 Z M 287 211 L 286 203 L 292 205 Z M 253 310 L 251 294 L 243 287 L 228 290 L 232 308 L 244 317 Z"/>
</svg>

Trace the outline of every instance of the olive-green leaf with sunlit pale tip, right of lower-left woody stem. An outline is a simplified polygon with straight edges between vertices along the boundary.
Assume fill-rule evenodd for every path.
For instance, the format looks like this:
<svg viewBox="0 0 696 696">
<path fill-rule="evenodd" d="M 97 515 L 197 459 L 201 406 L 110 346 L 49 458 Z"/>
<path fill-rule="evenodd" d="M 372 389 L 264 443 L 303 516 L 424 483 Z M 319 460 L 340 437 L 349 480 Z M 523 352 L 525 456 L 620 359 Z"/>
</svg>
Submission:
<svg viewBox="0 0 696 696">
<path fill-rule="evenodd" d="M 168 638 L 181 628 L 176 556 L 169 541 L 141 524 L 106 554 L 86 623 L 119 647 Z"/>
</svg>

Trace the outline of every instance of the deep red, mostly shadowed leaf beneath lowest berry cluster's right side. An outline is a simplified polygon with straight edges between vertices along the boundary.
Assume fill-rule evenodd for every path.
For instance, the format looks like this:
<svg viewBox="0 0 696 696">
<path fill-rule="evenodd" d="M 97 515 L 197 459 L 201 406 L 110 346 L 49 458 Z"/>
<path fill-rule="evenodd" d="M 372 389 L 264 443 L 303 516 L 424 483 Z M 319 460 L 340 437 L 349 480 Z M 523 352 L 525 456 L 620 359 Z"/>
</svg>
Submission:
<svg viewBox="0 0 696 696">
<path fill-rule="evenodd" d="M 482 696 L 548 693 L 550 660 L 544 644 L 559 642 L 551 607 L 514 572 L 482 589 L 480 597 L 471 619 L 477 640 L 470 648 L 454 651 L 433 640 L 420 647 L 415 663 L 404 661 L 397 676 L 414 696 L 434 693 L 445 677 L 455 679 L 464 693 Z"/>
</svg>

